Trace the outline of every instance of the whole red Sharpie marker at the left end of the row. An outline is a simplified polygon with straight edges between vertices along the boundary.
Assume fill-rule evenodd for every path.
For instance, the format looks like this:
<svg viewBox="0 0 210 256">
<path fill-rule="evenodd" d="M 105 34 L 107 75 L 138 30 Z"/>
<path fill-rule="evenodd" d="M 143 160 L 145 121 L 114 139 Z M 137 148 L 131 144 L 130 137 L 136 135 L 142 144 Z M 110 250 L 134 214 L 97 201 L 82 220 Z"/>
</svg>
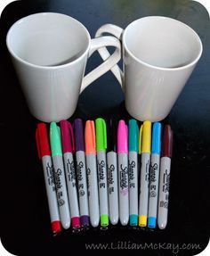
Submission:
<svg viewBox="0 0 210 256">
<path fill-rule="evenodd" d="M 52 169 L 51 150 L 48 141 L 47 129 L 44 123 L 39 123 L 36 128 L 36 145 L 38 156 L 42 159 L 44 170 L 44 183 L 50 211 L 52 232 L 57 235 L 61 232 L 61 219 L 56 197 L 54 174 Z"/>
</svg>

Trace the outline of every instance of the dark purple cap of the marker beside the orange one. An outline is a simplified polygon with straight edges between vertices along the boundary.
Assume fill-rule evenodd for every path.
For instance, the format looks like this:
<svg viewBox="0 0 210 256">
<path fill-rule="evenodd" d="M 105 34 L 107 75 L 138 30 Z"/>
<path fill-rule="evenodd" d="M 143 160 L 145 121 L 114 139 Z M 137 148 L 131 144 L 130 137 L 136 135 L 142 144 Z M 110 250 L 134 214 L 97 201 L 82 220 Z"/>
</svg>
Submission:
<svg viewBox="0 0 210 256">
<path fill-rule="evenodd" d="M 83 120 L 76 119 L 73 124 L 76 151 L 85 151 Z"/>
</svg>

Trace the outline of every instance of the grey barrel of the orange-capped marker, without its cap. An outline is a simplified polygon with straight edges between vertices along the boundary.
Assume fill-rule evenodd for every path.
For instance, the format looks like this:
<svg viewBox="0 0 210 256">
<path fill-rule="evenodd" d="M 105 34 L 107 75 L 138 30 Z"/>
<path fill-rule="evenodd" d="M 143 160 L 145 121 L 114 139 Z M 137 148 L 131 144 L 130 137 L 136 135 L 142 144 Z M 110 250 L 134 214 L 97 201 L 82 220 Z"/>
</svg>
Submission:
<svg viewBox="0 0 210 256">
<path fill-rule="evenodd" d="M 93 227 L 99 225 L 99 192 L 95 154 L 86 154 L 87 189 L 89 194 L 89 211 Z"/>
</svg>

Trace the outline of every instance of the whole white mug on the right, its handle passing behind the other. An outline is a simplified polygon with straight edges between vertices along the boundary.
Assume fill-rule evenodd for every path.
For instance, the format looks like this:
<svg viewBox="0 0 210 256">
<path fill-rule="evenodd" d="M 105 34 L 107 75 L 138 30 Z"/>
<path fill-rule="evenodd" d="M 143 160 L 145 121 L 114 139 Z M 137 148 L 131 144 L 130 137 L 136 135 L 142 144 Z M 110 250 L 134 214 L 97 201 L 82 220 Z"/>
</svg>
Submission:
<svg viewBox="0 0 210 256">
<path fill-rule="evenodd" d="M 125 91 L 125 108 L 137 120 L 166 118 L 201 54 L 198 34 L 181 21 L 148 16 L 125 30 L 105 24 L 95 37 L 109 33 L 122 40 L 124 72 L 111 70 Z M 103 60 L 109 57 L 104 47 Z"/>
</svg>

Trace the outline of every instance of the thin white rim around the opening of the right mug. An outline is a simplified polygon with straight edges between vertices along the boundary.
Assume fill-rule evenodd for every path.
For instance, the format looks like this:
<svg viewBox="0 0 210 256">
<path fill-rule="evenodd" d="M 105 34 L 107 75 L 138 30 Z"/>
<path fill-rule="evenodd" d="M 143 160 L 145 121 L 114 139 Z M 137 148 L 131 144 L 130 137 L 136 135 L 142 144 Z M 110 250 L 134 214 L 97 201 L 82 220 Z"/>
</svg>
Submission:
<svg viewBox="0 0 210 256">
<path fill-rule="evenodd" d="M 131 27 L 133 26 L 134 23 L 137 23 L 137 22 L 140 22 L 142 20 L 153 20 L 153 19 L 165 19 L 165 20 L 171 20 L 171 21 L 174 21 L 176 23 L 179 23 L 180 25 L 182 25 L 182 27 L 186 28 L 186 29 L 189 29 L 190 32 L 195 36 L 197 37 L 197 40 L 198 40 L 198 44 L 199 44 L 199 53 L 198 53 L 198 56 L 190 63 L 186 64 L 186 65 L 183 65 L 181 67 L 175 67 L 175 68 L 164 68 L 164 67 L 158 67 L 156 65 L 152 65 L 152 64 L 149 64 L 147 62 L 143 62 L 141 61 L 141 59 L 137 58 L 128 48 L 128 46 L 126 45 L 125 43 L 125 37 L 126 37 L 126 33 L 129 29 L 131 29 Z M 200 59 L 201 57 L 201 54 L 203 53 L 203 44 L 202 44 L 202 41 L 200 39 L 200 37 L 198 36 L 197 32 L 190 28 L 190 26 L 188 26 L 187 24 L 183 23 L 182 21 L 178 21 L 178 20 L 175 20 L 173 18 L 170 18 L 170 17 L 165 17 L 165 16 L 146 16 L 146 17 L 142 17 L 138 20 L 135 20 L 133 22 L 131 22 L 124 30 L 124 33 L 123 33 L 123 37 L 122 37 L 122 42 L 123 42 L 123 45 L 124 45 L 124 48 L 126 50 L 126 52 L 136 61 L 136 62 L 139 62 L 149 68 L 152 68 L 152 69 L 157 69 L 157 70 L 184 70 L 184 69 L 187 69 L 187 68 L 190 68 L 191 66 L 195 65 L 198 60 Z"/>
</svg>

